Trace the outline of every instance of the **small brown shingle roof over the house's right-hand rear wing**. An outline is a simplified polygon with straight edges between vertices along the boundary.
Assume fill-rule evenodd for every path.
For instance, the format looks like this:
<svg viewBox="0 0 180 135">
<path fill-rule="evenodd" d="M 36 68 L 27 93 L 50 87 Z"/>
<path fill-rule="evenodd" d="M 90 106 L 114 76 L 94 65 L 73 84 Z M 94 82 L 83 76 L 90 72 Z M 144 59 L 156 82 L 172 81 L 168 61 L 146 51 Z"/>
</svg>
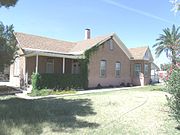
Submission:
<svg viewBox="0 0 180 135">
<path fill-rule="evenodd" d="M 136 60 L 142 60 L 148 47 L 129 48 L 130 53 Z"/>
</svg>

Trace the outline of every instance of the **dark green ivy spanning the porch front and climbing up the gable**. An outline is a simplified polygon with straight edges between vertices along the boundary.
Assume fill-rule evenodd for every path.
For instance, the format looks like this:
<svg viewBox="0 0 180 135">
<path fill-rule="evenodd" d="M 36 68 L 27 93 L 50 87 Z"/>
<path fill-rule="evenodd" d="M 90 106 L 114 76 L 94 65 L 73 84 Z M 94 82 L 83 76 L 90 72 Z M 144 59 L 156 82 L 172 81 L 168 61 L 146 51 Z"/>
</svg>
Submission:
<svg viewBox="0 0 180 135">
<path fill-rule="evenodd" d="M 33 73 L 32 86 L 34 90 L 40 89 L 72 89 L 88 88 L 88 64 L 90 57 L 98 50 L 99 44 L 84 53 L 84 59 L 78 59 L 81 67 L 80 74 L 39 74 Z"/>
</svg>

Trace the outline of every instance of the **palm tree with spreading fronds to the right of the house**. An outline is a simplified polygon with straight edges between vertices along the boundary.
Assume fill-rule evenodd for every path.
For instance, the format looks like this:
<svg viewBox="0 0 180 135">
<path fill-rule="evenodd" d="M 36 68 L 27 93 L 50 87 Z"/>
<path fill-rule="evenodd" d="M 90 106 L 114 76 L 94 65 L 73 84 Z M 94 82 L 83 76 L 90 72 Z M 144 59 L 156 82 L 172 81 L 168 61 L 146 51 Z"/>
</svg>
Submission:
<svg viewBox="0 0 180 135">
<path fill-rule="evenodd" d="M 159 38 L 156 39 L 157 43 L 153 45 L 156 47 L 155 54 L 157 57 L 164 51 L 167 54 L 167 57 L 171 57 L 171 62 L 173 65 L 176 65 L 176 60 L 180 52 L 180 27 L 176 28 L 175 25 L 172 26 L 172 30 L 166 28 L 163 30 L 163 34 L 159 35 Z"/>
</svg>

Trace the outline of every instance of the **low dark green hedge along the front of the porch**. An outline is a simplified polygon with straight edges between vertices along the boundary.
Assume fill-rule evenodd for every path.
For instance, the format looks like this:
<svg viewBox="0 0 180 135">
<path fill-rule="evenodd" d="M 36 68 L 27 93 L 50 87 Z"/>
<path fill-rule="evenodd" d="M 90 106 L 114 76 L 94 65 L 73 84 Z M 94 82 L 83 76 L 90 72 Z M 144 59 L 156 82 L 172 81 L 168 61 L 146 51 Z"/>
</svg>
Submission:
<svg viewBox="0 0 180 135">
<path fill-rule="evenodd" d="M 82 79 L 79 74 L 33 74 L 32 86 L 38 90 L 83 88 Z"/>
</svg>

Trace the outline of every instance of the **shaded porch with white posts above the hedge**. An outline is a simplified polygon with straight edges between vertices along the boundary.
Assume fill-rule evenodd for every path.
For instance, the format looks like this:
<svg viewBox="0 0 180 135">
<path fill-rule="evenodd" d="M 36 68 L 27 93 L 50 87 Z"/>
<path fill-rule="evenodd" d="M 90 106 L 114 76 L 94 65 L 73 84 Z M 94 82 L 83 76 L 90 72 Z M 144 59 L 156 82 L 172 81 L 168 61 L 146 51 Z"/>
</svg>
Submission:
<svg viewBox="0 0 180 135">
<path fill-rule="evenodd" d="M 79 74 L 80 63 L 77 58 L 53 56 L 25 57 L 25 84 L 31 84 L 33 73 L 39 74 Z"/>
</svg>

